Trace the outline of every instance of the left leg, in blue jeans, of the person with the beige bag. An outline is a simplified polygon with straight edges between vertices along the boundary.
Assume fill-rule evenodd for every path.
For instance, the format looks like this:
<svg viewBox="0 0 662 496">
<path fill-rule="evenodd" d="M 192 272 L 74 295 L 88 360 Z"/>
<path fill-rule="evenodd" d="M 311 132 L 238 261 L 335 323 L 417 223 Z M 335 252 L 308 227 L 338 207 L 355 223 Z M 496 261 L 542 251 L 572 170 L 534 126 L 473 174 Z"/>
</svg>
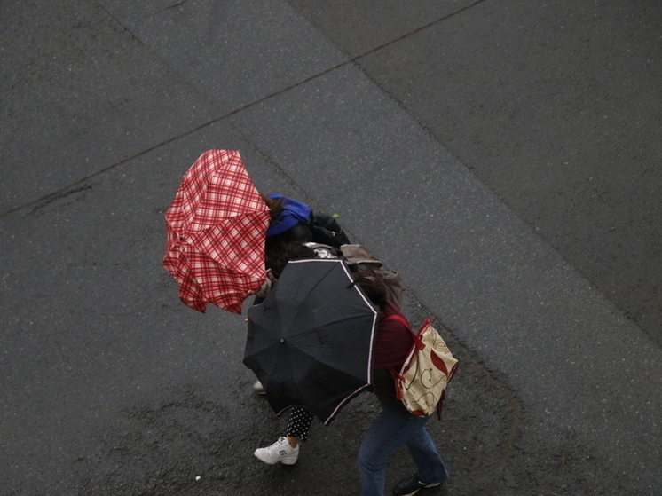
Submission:
<svg viewBox="0 0 662 496">
<path fill-rule="evenodd" d="M 367 429 L 359 447 L 361 494 L 382 496 L 385 463 L 390 453 L 424 425 L 425 419 L 407 412 L 402 405 L 383 405 L 382 413 Z"/>
</svg>

